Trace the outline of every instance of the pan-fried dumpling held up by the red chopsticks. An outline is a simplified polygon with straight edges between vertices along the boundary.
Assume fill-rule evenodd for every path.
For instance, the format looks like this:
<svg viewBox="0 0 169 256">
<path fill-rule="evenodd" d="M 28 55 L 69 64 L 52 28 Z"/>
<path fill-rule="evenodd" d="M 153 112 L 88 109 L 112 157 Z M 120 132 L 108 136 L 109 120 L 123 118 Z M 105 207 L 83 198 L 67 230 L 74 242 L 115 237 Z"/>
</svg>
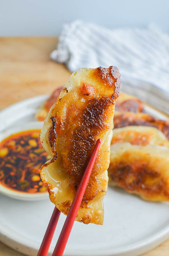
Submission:
<svg viewBox="0 0 169 256">
<path fill-rule="evenodd" d="M 102 224 L 107 191 L 114 107 L 120 75 L 116 67 L 74 72 L 45 118 L 40 134 L 51 156 L 40 169 L 50 200 L 68 214 L 96 141 L 102 140 L 77 221 Z"/>
</svg>

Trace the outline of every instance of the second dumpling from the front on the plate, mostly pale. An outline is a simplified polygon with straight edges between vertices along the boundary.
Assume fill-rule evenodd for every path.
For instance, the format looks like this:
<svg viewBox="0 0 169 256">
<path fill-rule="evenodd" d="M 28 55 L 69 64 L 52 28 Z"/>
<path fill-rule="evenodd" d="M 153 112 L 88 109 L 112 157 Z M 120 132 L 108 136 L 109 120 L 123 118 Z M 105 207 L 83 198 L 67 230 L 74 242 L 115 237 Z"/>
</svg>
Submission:
<svg viewBox="0 0 169 256">
<path fill-rule="evenodd" d="M 160 145 L 169 148 L 169 141 L 157 128 L 148 126 L 126 126 L 113 130 L 111 144 L 129 142 L 133 145 Z"/>
</svg>

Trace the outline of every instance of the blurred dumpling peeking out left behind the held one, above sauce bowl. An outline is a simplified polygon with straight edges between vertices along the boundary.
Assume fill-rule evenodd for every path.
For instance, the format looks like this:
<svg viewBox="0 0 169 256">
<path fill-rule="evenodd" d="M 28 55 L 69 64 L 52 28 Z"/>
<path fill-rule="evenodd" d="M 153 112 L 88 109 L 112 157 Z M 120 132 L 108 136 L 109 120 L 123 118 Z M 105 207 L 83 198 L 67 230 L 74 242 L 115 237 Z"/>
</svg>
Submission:
<svg viewBox="0 0 169 256">
<path fill-rule="evenodd" d="M 52 105 L 55 103 L 57 98 L 59 97 L 62 89 L 63 89 L 63 86 L 56 88 L 55 91 L 52 92 L 52 94 L 49 96 L 49 98 L 47 100 L 45 100 L 45 102 L 42 104 L 42 106 L 40 106 L 40 108 L 38 109 L 38 111 L 35 115 L 35 117 L 38 121 L 44 121 L 45 116 L 48 114 L 48 111 L 50 110 Z"/>
</svg>

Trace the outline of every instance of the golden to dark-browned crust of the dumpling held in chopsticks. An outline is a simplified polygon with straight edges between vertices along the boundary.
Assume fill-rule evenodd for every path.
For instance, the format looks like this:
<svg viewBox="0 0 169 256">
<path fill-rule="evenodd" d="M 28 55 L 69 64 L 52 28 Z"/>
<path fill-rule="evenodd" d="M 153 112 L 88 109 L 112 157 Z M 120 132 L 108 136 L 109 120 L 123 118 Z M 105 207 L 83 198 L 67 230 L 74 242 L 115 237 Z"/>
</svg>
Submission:
<svg viewBox="0 0 169 256">
<path fill-rule="evenodd" d="M 68 87 L 64 87 L 61 96 L 46 117 L 50 123 L 46 133 L 46 142 L 50 144 L 51 162 L 56 159 L 59 161 L 60 166 L 69 176 L 70 191 L 73 191 L 74 195 L 97 139 L 104 138 L 105 133 L 112 127 L 114 107 L 120 87 L 120 74 L 116 67 L 99 67 L 90 69 L 90 71 L 87 69 L 86 72 L 88 72 L 87 79 L 90 83 L 81 81 L 80 86 L 70 91 Z M 76 72 L 73 75 L 76 76 Z M 75 96 L 77 100 L 72 101 Z M 66 115 L 63 115 L 63 109 L 66 109 Z M 88 203 L 96 196 L 99 197 L 106 193 L 97 176 L 108 167 L 107 162 L 100 165 L 101 162 L 103 163 L 104 154 L 106 155 L 108 152 L 99 151 L 97 155 L 81 203 L 82 208 L 87 208 Z M 44 164 L 41 170 L 51 162 Z M 107 181 L 102 182 L 106 183 Z M 67 214 L 70 206 L 70 200 L 63 202 L 62 205 L 56 205 L 64 214 Z M 89 223 L 91 221 L 90 214 L 83 216 L 79 221 Z M 93 223 L 97 223 L 97 221 Z M 101 224 L 101 221 L 98 224 Z"/>
</svg>

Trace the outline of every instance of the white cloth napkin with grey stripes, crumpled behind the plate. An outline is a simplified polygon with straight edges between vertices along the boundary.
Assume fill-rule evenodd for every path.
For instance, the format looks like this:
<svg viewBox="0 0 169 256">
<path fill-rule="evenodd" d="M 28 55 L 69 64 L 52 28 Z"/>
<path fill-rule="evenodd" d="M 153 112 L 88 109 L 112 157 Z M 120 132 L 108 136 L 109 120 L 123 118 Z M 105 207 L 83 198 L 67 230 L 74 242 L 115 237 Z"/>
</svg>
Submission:
<svg viewBox="0 0 169 256">
<path fill-rule="evenodd" d="M 107 29 L 75 20 L 63 26 L 50 56 L 71 72 L 117 66 L 123 81 L 133 78 L 169 92 L 169 35 L 152 26 Z"/>
</svg>

